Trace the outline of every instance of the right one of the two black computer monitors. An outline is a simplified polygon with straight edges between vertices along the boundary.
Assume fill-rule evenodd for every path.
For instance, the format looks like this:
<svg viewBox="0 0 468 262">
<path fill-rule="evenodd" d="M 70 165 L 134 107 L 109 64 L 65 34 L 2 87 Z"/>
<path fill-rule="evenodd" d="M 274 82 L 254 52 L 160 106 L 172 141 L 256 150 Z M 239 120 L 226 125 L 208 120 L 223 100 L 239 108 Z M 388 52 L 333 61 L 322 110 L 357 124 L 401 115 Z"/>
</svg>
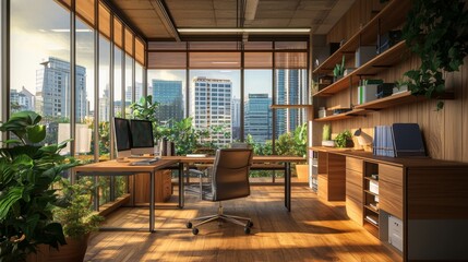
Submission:
<svg viewBox="0 0 468 262">
<path fill-rule="evenodd" d="M 153 155 L 155 152 L 153 122 L 132 119 L 130 130 L 132 134 L 132 155 Z"/>
</svg>

